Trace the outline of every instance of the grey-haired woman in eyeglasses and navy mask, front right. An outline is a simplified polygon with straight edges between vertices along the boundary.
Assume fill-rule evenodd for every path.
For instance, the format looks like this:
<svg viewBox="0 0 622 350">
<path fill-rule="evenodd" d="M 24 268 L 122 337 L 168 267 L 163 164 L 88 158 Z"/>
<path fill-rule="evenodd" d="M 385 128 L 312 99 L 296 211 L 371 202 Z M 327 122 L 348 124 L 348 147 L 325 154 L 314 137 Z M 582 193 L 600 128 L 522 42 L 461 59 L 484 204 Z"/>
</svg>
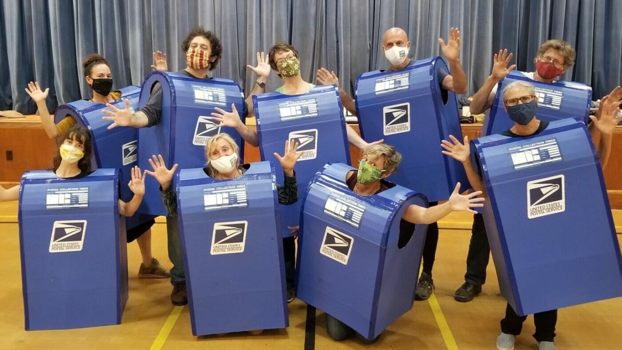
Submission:
<svg viewBox="0 0 622 350">
<path fill-rule="evenodd" d="M 548 121 L 539 120 L 536 115 L 537 99 L 536 90 L 530 83 L 517 80 L 509 83 L 503 89 L 503 103 L 504 108 L 508 112 L 509 118 L 514 121 L 514 126 L 509 130 L 503 131 L 501 135 L 509 136 L 513 138 L 524 138 L 527 136 L 533 136 L 544 131 L 549 126 Z M 611 135 L 615 130 L 618 120 L 618 108 L 616 101 L 613 99 L 607 100 L 602 108 L 600 120 L 595 116 L 590 116 L 592 123 L 601 135 L 611 143 Z M 607 137 L 608 136 L 608 137 Z M 468 144 L 468 136 L 465 136 L 464 143 L 460 143 L 455 137 L 450 136 L 452 142 L 443 140 L 442 151 L 443 154 L 451 156 L 452 158 L 460 161 L 465 167 L 466 176 L 471 182 L 471 186 L 476 191 L 482 191 L 482 196 L 486 196 L 486 188 L 483 184 L 481 175 L 476 168 L 473 167 L 470 157 L 470 146 Z M 603 143 L 600 143 L 597 151 L 601 156 L 601 166 L 605 166 L 606 158 L 608 154 L 602 154 L 603 148 L 606 148 Z M 512 350 L 514 349 L 514 341 L 516 336 L 521 333 L 522 323 L 527 319 L 527 316 L 518 316 L 509 304 L 506 306 L 505 318 L 501 320 L 501 334 L 497 338 L 497 349 L 499 350 Z M 534 323 L 536 324 L 536 333 L 534 338 L 538 342 L 538 348 L 540 350 L 554 350 L 555 343 L 555 324 L 557 323 L 557 310 L 544 311 L 536 313 L 534 315 Z"/>
</svg>

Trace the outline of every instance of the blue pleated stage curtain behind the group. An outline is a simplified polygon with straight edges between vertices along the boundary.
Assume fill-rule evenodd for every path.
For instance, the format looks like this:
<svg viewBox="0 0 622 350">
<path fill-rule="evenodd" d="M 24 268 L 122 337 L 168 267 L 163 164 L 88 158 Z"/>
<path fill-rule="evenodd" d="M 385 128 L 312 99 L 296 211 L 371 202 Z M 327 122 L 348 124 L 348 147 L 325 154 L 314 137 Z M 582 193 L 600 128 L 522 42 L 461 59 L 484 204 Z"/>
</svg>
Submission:
<svg viewBox="0 0 622 350">
<path fill-rule="evenodd" d="M 592 85 L 601 97 L 622 80 L 622 1 L 618 0 L 0 0 L 0 110 L 34 113 L 24 92 L 37 80 L 50 87 L 48 105 L 89 98 L 81 62 L 93 52 L 111 64 L 114 87 L 140 85 L 152 52 L 167 52 L 169 70 L 185 67 L 180 44 L 192 27 L 214 31 L 223 57 L 213 72 L 247 90 L 255 54 L 274 42 L 300 52 L 302 74 L 318 67 L 338 72 L 351 92 L 356 77 L 384 68 L 389 27 L 402 27 L 411 55 L 439 54 L 437 38 L 450 27 L 462 34 L 462 64 L 474 93 L 490 74 L 493 52 L 514 52 L 519 70 L 547 39 L 577 50 L 565 79 Z M 268 89 L 279 86 L 271 75 Z"/>
</svg>

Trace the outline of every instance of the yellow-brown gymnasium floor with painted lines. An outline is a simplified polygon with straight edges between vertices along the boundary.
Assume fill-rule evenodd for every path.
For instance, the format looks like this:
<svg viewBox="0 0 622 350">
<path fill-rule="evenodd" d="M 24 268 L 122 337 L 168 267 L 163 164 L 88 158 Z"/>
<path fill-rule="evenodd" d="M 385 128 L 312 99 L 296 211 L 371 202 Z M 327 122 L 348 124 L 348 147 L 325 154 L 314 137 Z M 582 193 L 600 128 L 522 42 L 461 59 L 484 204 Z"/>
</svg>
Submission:
<svg viewBox="0 0 622 350">
<path fill-rule="evenodd" d="M 435 296 L 415 302 L 372 346 L 363 346 L 356 339 L 333 342 L 322 311 L 315 313 L 313 328 L 313 313 L 309 313 L 307 324 L 307 306 L 300 300 L 289 304 L 287 329 L 265 331 L 260 336 L 239 333 L 197 338 L 190 330 L 188 308 L 170 304 L 169 280 L 136 277 L 140 253 L 132 243 L 128 245 L 129 300 L 122 324 L 27 332 L 16 214 L 15 202 L 0 203 L 0 349 L 494 349 L 506 304 L 499 295 L 492 259 L 483 293 L 470 303 L 453 300 L 453 292 L 463 283 L 470 230 L 441 229 L 434 267 Z M 615 217 L 620 225 L 622 214 L 616 212 Z M 470 218 L 468 214 L 451 215 L 440 226 L 467 227 Z M 622 242 L 622 235 L 618 240 Z M 164 224 L 154 225 L 152 250 L 170 267 Z M 517 338 L 516 350 L 537 349 L 532 333 L 530 316 Z M 555 342 L 559 349 L 621 349 L 622 298 L 560 310 Z"/>
</svg>

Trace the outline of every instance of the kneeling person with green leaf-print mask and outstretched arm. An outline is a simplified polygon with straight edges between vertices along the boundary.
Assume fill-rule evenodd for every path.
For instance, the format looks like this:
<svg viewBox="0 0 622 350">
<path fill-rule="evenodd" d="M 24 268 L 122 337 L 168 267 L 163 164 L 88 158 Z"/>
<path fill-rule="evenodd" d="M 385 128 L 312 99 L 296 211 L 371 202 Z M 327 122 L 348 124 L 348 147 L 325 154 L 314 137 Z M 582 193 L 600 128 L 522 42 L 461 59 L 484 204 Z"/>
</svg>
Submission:
<svg viewBox="0 0 622 350">
<path fill-rule="evenodd" d="M 346 184 L 360 196 L 379 194 L 389 189 L 383 179 L 395 173 L 401 161 L 402 155 L 397 152 L 395 147 L 388 144 L 373 144 L 365 149 L 358 170 L 352 170 L 346 174 Z M 481 202 L 485 201 L 485 199 L 477 197 L 481 194 L 481 191 L 476 191 L 466 196 L 462 196 L 459 192 L 460 182 L 456 184 L 452 196 L 449 197 L 447 202 L 429 208 L 413 204 L 404 211 L 402 219 L 413 224 L 430 224 L 437 222 L 452 211 L 475 213 L 475 210 L 471 208 L 483 207 Z M 326 315 L 326 324 L 328 334 L 336 341 L 346 339 L 355 332 L 345 323 L 328 314 Z M 375 343 L 380 338 L 378 336 L 369 341 L 361 334 L 356 333 L 355 335 L 364 344 Z"/>
</svg>

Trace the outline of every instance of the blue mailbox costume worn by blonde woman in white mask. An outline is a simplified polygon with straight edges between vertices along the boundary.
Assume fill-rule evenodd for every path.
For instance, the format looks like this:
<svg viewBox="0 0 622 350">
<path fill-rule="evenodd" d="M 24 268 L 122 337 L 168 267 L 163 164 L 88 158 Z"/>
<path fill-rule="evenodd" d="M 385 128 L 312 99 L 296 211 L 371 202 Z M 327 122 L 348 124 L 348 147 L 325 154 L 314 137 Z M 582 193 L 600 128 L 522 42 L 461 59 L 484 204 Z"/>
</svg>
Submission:
<svg viewBox="0 0 622 350">
<path fill-rule="evenodd" d="M 231 180 L 203 168 L 177 177 L 192 334 L 287 327 L 274 166 L 251 163 Z"/>
</svg>

